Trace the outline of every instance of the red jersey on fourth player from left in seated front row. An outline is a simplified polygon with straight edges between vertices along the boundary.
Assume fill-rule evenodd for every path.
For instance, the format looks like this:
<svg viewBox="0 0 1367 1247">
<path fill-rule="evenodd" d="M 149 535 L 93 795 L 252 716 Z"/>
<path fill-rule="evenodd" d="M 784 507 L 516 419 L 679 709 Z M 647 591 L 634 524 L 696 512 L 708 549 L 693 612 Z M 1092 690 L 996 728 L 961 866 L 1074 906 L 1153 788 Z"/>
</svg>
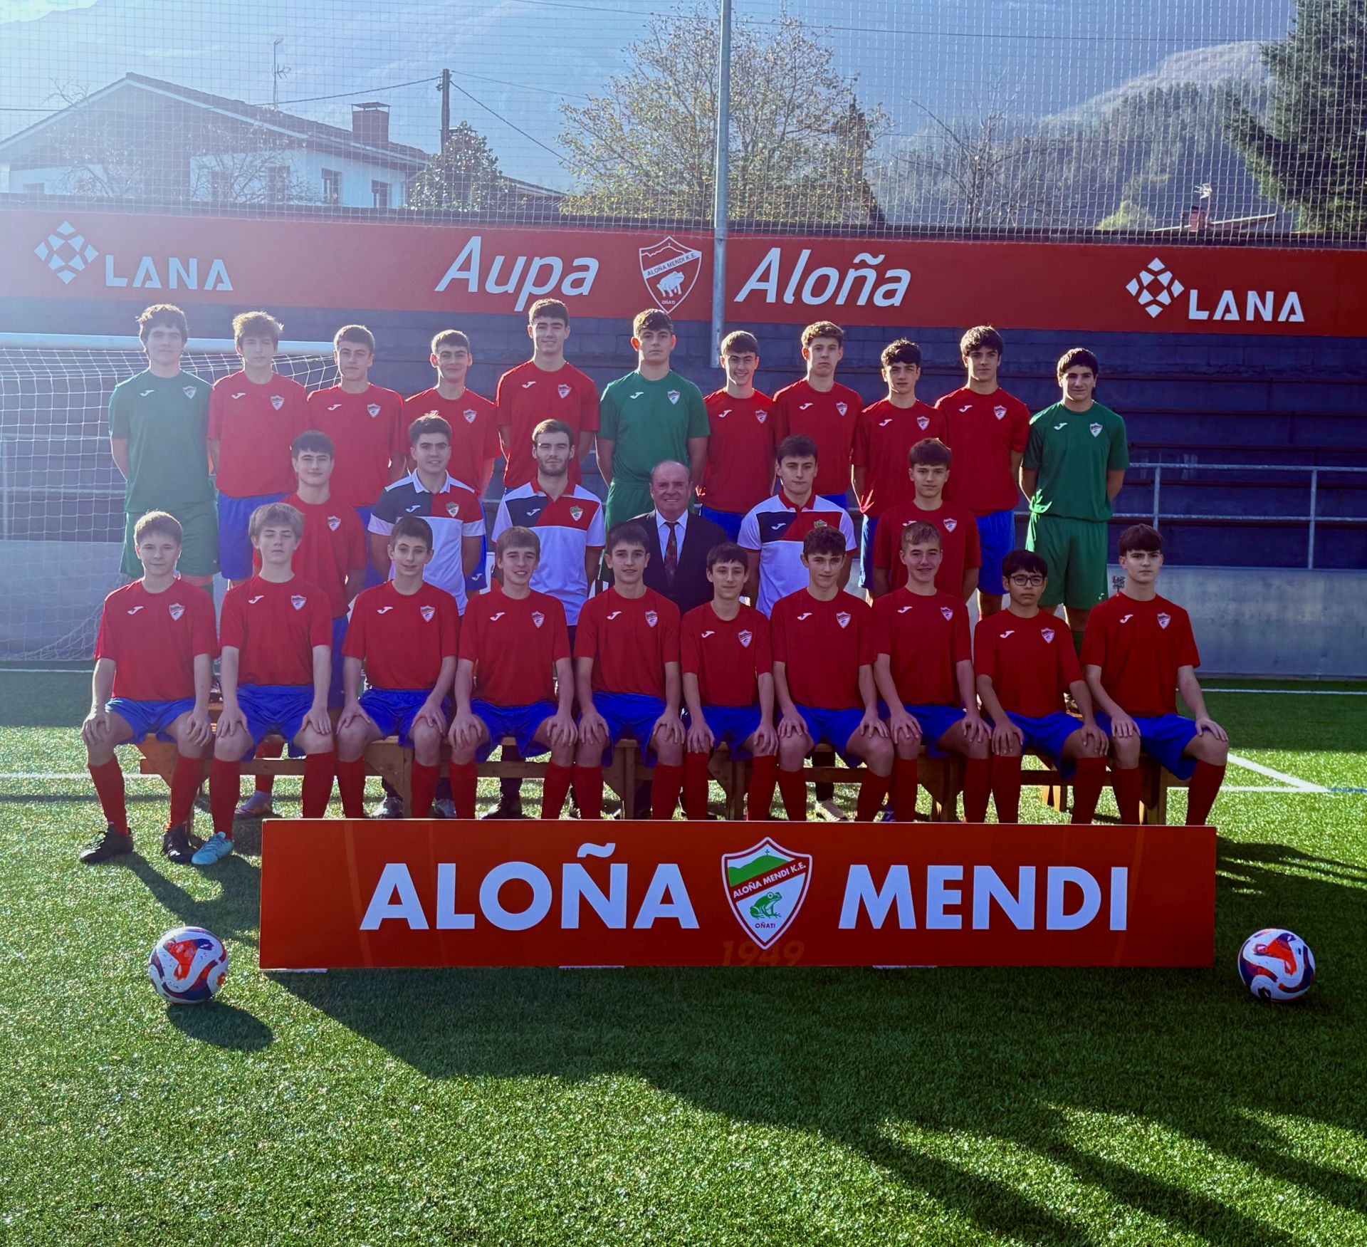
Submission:
<svg viewBox="0 0 1367 1247">
<path fill-rule="evenodd" d="M 550 593 L 480 593 L 465 608 L 461 658 L 474 663 L 474 696 L 481 701 L 554 701 L 555 663 L 569 656 L 565 607 Z"/>
</svg>

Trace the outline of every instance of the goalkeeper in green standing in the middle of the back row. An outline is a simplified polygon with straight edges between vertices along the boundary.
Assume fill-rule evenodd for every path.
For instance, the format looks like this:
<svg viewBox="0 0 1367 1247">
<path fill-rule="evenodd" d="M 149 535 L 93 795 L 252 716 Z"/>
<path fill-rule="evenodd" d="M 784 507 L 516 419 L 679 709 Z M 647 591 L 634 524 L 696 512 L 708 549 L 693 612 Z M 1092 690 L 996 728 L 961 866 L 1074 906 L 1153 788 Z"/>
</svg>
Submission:
<svg viewBox="0 0 1367 1247">
<path fill-rule="evenodd" d="M 599 403 L 597 461 L 607 481 L 607 526 L 651 510 L 651 473 L 666 459 L 703 479 L 709 425 L 703 391 L 670 368 L 674 321 L 659 308 L 632 321 L 637 366 L 610 381 Z"/>
</svg>

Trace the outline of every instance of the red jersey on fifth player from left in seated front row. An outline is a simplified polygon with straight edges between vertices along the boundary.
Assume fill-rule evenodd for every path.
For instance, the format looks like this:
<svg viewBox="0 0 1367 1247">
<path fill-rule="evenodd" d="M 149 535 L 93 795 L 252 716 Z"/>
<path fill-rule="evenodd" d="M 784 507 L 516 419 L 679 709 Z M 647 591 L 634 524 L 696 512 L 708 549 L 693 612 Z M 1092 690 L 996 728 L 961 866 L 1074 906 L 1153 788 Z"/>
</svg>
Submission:
<svg viewBox="0 0 1367 1247">
<path fill-rule="evenodd" d="M 595 693 L 663 699 L 664 663 L 679 660 L 679 608 L 655 589 L 597 593 L 580 611 L 574 656 L 593 659 Z"/>
</svg>

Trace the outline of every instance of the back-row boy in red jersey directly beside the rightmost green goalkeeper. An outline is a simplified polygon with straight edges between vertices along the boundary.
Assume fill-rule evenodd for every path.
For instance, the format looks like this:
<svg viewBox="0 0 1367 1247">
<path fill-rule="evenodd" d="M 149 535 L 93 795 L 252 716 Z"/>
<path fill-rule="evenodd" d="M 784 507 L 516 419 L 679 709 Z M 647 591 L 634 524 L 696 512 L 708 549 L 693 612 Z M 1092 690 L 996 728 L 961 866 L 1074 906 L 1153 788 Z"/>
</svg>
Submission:
<svg viewBox="0 0 1367 1247">
<path fill-rule="evenodd" d="M 1029 407 L 997 384 L 1003 350 L 991 325 L 969 330 L 958 343 L 968 381 L 935 403 L 957 464 L 947 498 L 977 517 L 977 613 L 984 618 L 1002 608 L 1002 559 L 1016 548 L 1017 476 L 1029 440 Z"/>
</svg>

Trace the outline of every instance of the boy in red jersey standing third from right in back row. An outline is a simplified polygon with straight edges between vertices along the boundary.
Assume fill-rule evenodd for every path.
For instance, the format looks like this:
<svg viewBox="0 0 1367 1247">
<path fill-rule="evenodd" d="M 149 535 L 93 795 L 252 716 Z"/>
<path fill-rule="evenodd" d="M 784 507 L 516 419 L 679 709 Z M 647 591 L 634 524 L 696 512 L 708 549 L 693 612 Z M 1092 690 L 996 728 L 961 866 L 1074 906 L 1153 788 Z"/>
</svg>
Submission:
<svg viewBox="0 0 1367 1247">
<path fill-rule="evenodd" d="M 912 447 L 945 432 L 945 416 L 916 397 L 921 349 L 905 338 L 883 347 L 887 398 L 865 407 L 854 424 L 854 495 L 864 515 L 860 543 L 860 584 L 874 588 L 874 547 L 879 520 L 910 503 L 913 481 L 902 470 Z"/>
</svg>

